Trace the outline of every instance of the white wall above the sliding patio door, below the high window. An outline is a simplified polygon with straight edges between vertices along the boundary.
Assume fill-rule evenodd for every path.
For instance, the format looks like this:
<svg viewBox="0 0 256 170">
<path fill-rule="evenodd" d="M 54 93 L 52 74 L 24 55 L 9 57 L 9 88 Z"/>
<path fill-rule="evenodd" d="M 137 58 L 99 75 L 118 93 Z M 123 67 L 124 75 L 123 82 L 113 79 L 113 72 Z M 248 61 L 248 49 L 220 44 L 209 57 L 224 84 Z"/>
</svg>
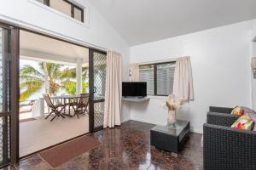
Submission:
<svg viewBox="0 0 256 170">
<path fill-rule="evenodd" d="M 96 8 L 90 5 L 90 0 L 76 0 L 75 2 L 90 9 L 89 27 L 30 3 L 29 0 L 0 0 L 0 20 L 43 31 L 73 42 L 119 51 L 123 54 L 124 80 L 128 80 L 129 46 L 102 18 Z M 130 107 L 128 104 L 123 105 L 123 119 L 129 119 L 129 117 Z"/>
</svg>

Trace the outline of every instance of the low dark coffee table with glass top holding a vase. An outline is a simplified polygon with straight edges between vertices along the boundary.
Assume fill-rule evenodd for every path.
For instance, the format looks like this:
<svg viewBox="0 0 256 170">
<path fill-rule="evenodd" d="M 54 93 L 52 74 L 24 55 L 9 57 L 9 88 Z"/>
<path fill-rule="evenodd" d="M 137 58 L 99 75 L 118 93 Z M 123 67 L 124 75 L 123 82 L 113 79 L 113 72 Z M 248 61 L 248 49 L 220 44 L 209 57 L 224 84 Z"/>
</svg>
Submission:
<svg viewBox="0 0 256 170">
<path fill-rule="evenodd" d="M 166 126 L 155 126 L 150 130 L 150 144 L 161 150 L 172 152 L 177 156 L 177 152 L 183 148 L 189 139 L 190 123 L 177 120 L 176 129 L 169 129 Z"/>
</svg>

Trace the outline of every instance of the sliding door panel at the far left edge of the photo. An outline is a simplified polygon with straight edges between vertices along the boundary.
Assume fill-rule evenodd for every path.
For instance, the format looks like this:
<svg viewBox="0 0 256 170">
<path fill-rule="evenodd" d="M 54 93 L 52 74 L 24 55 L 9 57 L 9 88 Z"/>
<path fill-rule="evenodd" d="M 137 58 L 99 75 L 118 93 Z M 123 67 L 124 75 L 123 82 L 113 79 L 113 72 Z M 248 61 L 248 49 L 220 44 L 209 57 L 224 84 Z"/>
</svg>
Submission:
<svg viewBox="0 0 256 170">
<path fill-rule="evenodd" d="M 19 30 L 0 23 L 0 167 L 18 159 Z"/>
</svg>

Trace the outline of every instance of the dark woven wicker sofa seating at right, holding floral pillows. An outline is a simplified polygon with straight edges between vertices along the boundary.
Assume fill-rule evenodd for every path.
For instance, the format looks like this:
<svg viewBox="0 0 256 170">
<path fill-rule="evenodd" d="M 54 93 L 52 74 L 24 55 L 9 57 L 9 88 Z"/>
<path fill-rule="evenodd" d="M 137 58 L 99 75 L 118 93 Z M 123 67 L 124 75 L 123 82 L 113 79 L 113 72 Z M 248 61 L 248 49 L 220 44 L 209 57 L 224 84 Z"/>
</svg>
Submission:
<svg viewBox="0 0 256 170">
<path fill-rule="evenodd" d="M 238 116 L 210 107 L 203 125 L 205 170 L 255 170 L 256 132 L 231 128 Z M 215 112 L 212 112 L 215 111 Z"/>
</svg>

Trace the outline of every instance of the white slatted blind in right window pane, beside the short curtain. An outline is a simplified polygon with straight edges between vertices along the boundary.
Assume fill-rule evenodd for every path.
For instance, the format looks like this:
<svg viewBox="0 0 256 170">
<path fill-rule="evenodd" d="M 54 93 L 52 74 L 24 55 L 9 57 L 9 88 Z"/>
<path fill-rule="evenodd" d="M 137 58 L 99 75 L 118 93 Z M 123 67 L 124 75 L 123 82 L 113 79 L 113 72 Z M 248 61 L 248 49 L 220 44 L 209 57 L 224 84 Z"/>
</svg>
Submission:
<svg viewBox="0 0 256 170">
<path fill-rule="evenodd" d="M 158 95 L 169 95 L 172 94 L 173 91 L 173 79 L 174 79 L 174 71 L 175 64 L 161 64 L 156 67 L 156 87 Z"/>
</svg>

